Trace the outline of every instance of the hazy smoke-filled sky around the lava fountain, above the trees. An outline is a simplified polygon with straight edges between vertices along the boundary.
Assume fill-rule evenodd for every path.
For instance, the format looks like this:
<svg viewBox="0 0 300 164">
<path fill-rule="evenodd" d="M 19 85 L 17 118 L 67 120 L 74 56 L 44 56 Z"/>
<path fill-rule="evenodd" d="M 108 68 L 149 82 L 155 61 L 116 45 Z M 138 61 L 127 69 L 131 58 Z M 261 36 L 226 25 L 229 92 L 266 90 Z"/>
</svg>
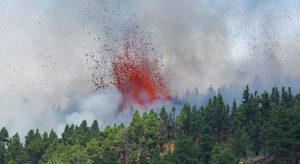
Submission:
<svg viewBox="0 0 300 164">
<path fill-rule="evenodd" d="M 163 56 L 173 96 L 213 87 L 231 99 L 246 84 L 299 91 L 297 0 L 0 0 L 0 127 L 25 134 L 82 119 L 120 122 L 117 105 L 105 103 L 118 104 L 120 93 L 93 92 L 87 54 L 120 51 L 136 24 Z"/>
</svg>

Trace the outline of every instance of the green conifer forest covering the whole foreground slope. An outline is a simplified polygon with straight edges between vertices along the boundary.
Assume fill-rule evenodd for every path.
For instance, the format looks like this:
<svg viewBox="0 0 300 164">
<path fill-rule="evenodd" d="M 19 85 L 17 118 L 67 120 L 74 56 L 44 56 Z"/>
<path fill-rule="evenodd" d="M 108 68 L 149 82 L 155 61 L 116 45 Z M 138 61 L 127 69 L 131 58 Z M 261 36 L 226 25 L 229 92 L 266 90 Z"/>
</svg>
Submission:
<svg viewBox="0 0 300 164">
<path fill-rule="evenodd" d="M 179 114 L 135 112 L 128 127 L 67 125 L 54 131 L 30 130 L 25 143 L 18 133 L 0 131 L 2 163 L 297 163 L 300 159 L 300 93 L 273 88 L 251 93 L 240 105 L 226 105 L 221 95 L 206 106 L 184 104 Z"/>
</svg>

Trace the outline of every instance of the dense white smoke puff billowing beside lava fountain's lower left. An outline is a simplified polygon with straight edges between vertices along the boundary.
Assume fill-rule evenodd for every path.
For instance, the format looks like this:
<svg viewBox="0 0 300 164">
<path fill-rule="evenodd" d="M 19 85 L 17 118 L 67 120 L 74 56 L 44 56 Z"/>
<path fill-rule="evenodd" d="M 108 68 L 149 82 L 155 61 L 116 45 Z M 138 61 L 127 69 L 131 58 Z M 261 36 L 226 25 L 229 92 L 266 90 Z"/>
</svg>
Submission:
<svg viewBox="0 0 300 164">
<path fill-rule="evenodd" d="M 128 123 L 128 113 L 119 113 L 122 95 L 119 91 L 110 87 L 98 94 L 92 94 L 81 99 L 75 99 L 77 108 L 70 106 L 66 110 L 67 114 L 64 122 L 58 126 L 58 134 L 61 134 L 66 124 L 79 125 L 82 120 L 86 120 L 91 126 L 94 120 L 98 120 L 100 129 L 113 123 Z M 126 117 L 125 117 L 126 116 Z"/>
</svg>

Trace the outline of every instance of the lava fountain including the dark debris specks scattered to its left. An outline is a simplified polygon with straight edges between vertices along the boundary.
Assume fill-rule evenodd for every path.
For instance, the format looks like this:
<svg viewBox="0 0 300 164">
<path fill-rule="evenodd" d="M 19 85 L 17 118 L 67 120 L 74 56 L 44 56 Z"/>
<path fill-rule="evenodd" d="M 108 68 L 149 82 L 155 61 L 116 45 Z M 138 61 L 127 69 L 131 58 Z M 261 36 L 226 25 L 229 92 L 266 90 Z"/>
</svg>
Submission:
<svg viewBox="0 0 300 164">
<path fill-rule="evenodd" d="M 163 58 L 151 42 L 151 33 L 137 25 L 130 27 L 122 37 L 121 50 L 105 45 L 105 54 L 100 54 L 100 59 L 92 55 L 96 63 L 93 75 L 96 90 L 114 85 L 122 94 L 119 111 L 132 105 L 145 108 L 158 100 L 170 100 L 163 77 Z M 110 66 L 107 68 L 110 71 L 103 69 L 105 65 Z"/>
</svg>

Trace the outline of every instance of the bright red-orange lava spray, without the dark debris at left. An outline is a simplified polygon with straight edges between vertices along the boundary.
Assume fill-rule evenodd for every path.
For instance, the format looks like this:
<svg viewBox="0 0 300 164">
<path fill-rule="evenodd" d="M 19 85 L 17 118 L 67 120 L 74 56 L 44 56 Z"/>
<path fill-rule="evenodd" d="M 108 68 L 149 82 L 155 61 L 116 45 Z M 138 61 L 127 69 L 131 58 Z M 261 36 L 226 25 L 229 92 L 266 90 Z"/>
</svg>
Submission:
<svg viewBox="0 0 300 164">
<path fill-rule="evenodd" d="M 170 95 L 157 63 L 152 62 L 134 43 L 124 44 L 124 53 L 112 62 L 114 85 L 123 95 L 120 110 L 132 103 L 145 106 Z"/>
</svg>

